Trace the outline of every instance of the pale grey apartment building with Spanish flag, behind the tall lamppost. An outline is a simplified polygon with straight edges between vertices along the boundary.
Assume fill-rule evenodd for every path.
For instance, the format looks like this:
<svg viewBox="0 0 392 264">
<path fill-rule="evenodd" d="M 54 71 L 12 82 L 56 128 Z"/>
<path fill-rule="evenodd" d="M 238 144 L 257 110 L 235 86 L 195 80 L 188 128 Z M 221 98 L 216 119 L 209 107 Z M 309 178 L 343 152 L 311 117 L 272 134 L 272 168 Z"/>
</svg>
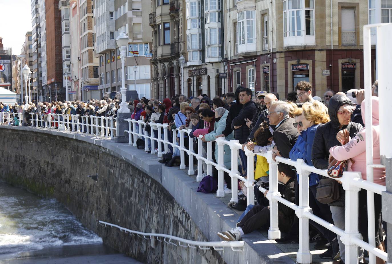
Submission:
<svg viewBox="0 0 392 264">
<path fill-rule="evenodd" d="M 99 57 L 100 91 L 120 91 L 122 78 L 127 90 L 136 90 L 139 97 L 153 97 L 151 92 L 151 43 L 148 16 L 151 2 L 142 0 L 96 1 L 96 56 Z M 129 37 L 125 76 L 121 73 L 120 50 L 116 38 L 121 32 Z M 136 84 L 136 86 L 135 86 Z"/>
</svg>

